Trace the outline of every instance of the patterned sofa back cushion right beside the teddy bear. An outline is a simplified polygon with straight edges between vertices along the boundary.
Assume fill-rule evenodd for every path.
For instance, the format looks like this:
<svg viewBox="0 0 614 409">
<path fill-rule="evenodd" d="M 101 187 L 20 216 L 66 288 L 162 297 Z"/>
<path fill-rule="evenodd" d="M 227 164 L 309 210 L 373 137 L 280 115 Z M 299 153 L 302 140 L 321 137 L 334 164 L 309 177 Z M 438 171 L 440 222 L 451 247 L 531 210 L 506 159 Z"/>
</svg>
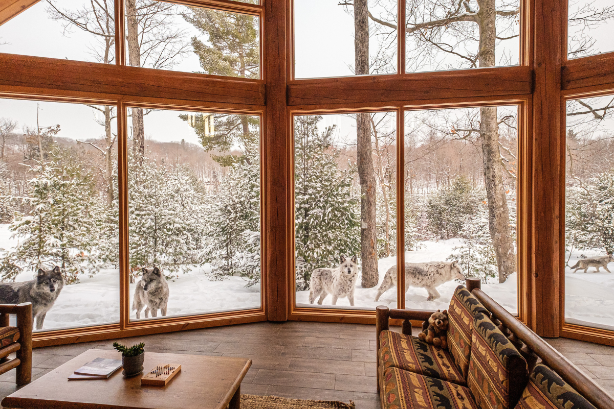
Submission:
<svg viewBox="0 0 614 409">
<path fill-rule="evenodd" d="M 473 320 L 478 313 L 490 315 L 467 288 L 462 285 L 456 287 L 448 308 L 448 351 L 465 379 L 471 355 Z"/>
</svg>

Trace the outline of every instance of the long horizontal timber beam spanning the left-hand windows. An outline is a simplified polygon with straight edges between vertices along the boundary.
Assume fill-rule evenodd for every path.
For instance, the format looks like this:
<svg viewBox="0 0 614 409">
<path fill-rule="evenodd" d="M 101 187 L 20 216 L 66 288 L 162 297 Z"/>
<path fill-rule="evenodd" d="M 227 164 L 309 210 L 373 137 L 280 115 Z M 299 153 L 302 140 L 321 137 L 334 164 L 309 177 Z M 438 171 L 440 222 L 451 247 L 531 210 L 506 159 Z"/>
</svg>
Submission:
<svg viewBox="0 0 614 409">
<path fill-rule="evenodd" d="M 265 105 L 265 85 L 114 64 L 0 54 L 0 90 L 28 87 L 95 94 L 195 100 L 239 105 Z"/>
</svg>

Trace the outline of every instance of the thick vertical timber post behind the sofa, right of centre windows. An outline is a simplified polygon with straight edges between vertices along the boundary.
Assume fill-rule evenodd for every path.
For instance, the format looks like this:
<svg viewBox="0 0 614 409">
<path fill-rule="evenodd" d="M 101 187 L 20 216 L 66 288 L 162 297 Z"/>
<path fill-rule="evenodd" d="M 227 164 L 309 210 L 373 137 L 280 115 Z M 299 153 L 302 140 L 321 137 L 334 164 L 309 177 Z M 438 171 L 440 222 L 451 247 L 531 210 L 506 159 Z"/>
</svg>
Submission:
<svg viewBox="0 0 614 409">
<path fill-rule="evenodd" d="M 564 0 L 535 0 L 532 192 L 532 329 L 558 337 L 561 61 Z"/>
</svg>

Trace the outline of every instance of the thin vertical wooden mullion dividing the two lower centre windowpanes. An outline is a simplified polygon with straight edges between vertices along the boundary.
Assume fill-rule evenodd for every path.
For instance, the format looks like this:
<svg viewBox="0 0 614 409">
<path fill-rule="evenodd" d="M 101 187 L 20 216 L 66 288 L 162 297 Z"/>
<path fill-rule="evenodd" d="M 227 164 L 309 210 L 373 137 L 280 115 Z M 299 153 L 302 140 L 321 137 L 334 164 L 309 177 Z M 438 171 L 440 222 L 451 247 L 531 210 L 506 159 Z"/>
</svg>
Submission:
<svg viewBox="0 0 614 409">
<path fill-rule="evenodd" d="M 405 110 L 397 110 L 397 308 L 405 309 Z M 385 198 L 384 198 L 385 200 Z"/>
</svg>

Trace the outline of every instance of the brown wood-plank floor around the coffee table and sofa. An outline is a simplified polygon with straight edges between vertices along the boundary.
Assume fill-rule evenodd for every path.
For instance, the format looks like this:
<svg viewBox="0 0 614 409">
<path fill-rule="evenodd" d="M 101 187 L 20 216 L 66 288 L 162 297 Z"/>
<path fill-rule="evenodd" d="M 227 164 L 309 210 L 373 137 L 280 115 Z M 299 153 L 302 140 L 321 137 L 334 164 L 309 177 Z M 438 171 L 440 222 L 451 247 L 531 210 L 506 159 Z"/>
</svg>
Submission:
<svg viewBox="0 0 614 409">
<path fill-rule="evenodd" d="M 354 400 L 357 409 L 379 408 L 375 389 L 375 326 L 255 323 L 172 332 L 123 340 L 146 351 L 244 356 L 254 363 L 243 380 L 246 394 L 298 399 Z M 34 379 L 90 348 L 112 349 L 112 340 L 37 348 Z M 614 395 L 614 347 L 569 339 L 551 345 Z M 15 370 L 0 375 L 0 399 L 15 391 Z"/>
</svg>

